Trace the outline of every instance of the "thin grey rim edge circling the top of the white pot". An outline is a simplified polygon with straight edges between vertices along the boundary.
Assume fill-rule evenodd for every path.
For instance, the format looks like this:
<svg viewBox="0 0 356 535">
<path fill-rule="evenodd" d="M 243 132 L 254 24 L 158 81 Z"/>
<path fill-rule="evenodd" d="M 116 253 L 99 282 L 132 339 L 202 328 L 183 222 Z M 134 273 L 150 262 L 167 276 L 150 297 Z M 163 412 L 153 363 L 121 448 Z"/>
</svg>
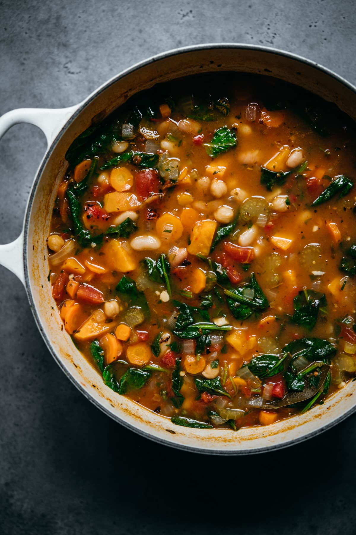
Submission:
<svg viewBox="0 0 356 535">
<path fill-rule="evenodd" d="M 308 65 L 310 67 L 315 68 L 318 71 L 321 71 L 323 73 L 328 74 L 329 77 L 334 78 L 338 82 L 342 83 L 342 85 L 344 85 L 347 88 L 349 88 L 356 95 L 356 87 L 352 83 L 350 83 L 349 81 L 347 81 L 346 79 L 341 77 L 340 75 L 338 75 L 335 72 L 331 71 L 329 68 L 324 67 L 324 66 L 318 64 L 317 62 L 314 62 L 314 61 L 312 61 L 310 59 L 307 59 L 307 58 L 305 58 L 303 56 L 299 56 L 299 55 L 297 55 L 295 53 L 292 53 L 292 52 L 287 52 L 287 51 L 276 49 L 276 48 L 273 48 L 273 47 L 264 47 L 264 46 L 255 45 L 255 44 L 244 44 L 244 43 L 204 43 L 204 44 L 195 44 L 195 45 L 191 45 L 191 46 L 187 46 L 187 47 L 180 47 L 180 48 L 175 48 L 175 49 L 168 50 L 166 52 L 162 52 L 162 53 L 154 55 L 154 56 L 152 56 L 150 58 L 144 59 L 141 62 L 138 62 L 138 63 L 134 64 L 131 67 L 126 68 L 125 70 L 123 70 L 120 73 L 116 74 L 114 77 L 110 78 L 107 82 L 105 82 L 104 84 L 99 86 L 96 90 L 92 91 L 92 93 L 88 97 L 86 97 L 78 105 L 78 107 L 76 108 L 76 110 L 74 111 L 72 116 L 70 116 L 69 119 L 66 121 L 65 125 L 62 126 L 62 128 L 60 129 L 60 132 L 57 134 L 56 138 L 52 141 L 51 145 L 47 148 L 47 150 L 45 152 L 44 158 L 43 158 L 43 160 L 42 160 L 42 162 L 41 162 L 41 164 L 40 164 L 40 166 L 39 166 L 39 168 L 37 170 L 35 179 L 34 179 L 33 184 L 31 186 L 31 191 L 30 191 L 30 195 L 29 195 L 29 199 L 28 199 L 28 203 L 27 203 L 27 207 L 26 207 L 26 211 L 25 211 L 25 219 L 24 219 L 24 224 L 23 224 L 23 266 L 24 266 L 24 272 L 25 272 L 25 288 L 26 288 L 26 293 L 27 293 L 27 297 L 28 297 L 28 300 L 29 300 L 29 304 L 30 304 L 30 309 L 31 309 L 31 312 L 32 312 L 32 314 L 33 314 L 33 316 L 35 318 L 35 322 L 36 322 L 37 328 L 38 328 L 39 332 L 41 333 L 42 338 L 45 341 L 46 346 L 47 346 L 48 350 L 50 351 L 52 357 L 57 362 L 57 364 L 59 365 L 60 369 L 68 377 L 68 379 L 70 381 L 72 381 L 72 383 L 85 396 L 85 398 L 88 399 L 89 401 L 91 401 L 94 404 L 94 406 L 96 406 L 98 409 L 100 409 L 102 412 L 104 412 L 107 416 L 109 416 L 110 418 L 114 419 L 114 421 L 116 421 L 116 422 L 120 423 L 121 425 L 123 425 L 124 427 L 126 427 L 126 429 L 129 429 L 129 430 L 141 435 L 142 437 L 145 437 L 147 439 L 153 440 L 155 442 L 159 442 L 159 444 L 162 444 L 162 445 L 165 445 L 165 446 L 171 446 L 171 447 L 173 447 L 175 449 L 183 449 L 183 450 L 187 450 L 187 451 L 193 452 L 193 453 L 204 453 L 204 454 L 210 454 L 210 455 L 225 455 L 225 456 L 227 456 L 227 455 L 252 455 L 252 454 L 265 453 L 267 451 L 269 452 L 269 451 L 272 451 L 272 450 L 287 448 L 287 447 L 289 447 L 289 446 L 291 446 L 293 444 L 299 444 L 300 442 L 303 442 L 303 441 L 305 441 L 305 440 L 307 440 L 309 438 L 312 438 L 314 436 L 319 435 L 320 433 L 322 433 L 322 432 L 324 432 L 324 431 L 326 431 L 328 429 L 331 429 L 331 427 L 334 427 L 334 425 L 338 424 L 339 422 L 342 422 L 344 419 L 346 419 L 348 416 L 350 416 L 351 414 L 353 414 L 356 411 L 356 402 L 355 402 L 354 407 L 352 407 L 351 409 L 347 410 L 342 415 L 335 417 L 335 419 L 333 419 L 331 422 L 329 422 L 329 423 L 327 423 L 325 425 L 322 425 L 321 427 L 319 427 L 318 429 L 315 429 L 314 431 L 310 431 L 310 432 L 308 432 L 306 434 L 303 434 L 301 437 L 299 437 L 297 439 L 288 440 L 288 441 L 283 442 L 281 444 L 267 445 L 267 446 L 264 446 L 264 447 L 261 447 L 261 448 L 254 448 L 254 449 L 251 449 L 251 450 L 248 450 L 248 449 L 224 450 L 224 449 L 219 449 L 219 447 L 214 448 L 214 449 L 210 449 L 210 448 L 204 448 L 204 447 L 198 447 L 198 446 L 194 447 L 194 446 L 190 446 L 190 445 L 183 445 L 183 444 L 174 443 L 174 442 L 171 442 L 171 441 L 166 440 L 164 438 L 158 437 L 155 434 L 150 433 L 149 431 L 144 431 L 144 430 L 138 429 L 135 425 L 133 425 L 133 424 L 131 424 L 129 422 L 126 422 L 124 419 L 122 419 L 120 417 L 120 415 L 118 415 L 116 413 L 114 414 L 113 412 L 110 412 L 109 410 L 107 410 L 106 407 L 104 407 L 98 400 L 96 400 L 84 388 L 84 386 L 80 383 L 80 381 L 78 381 L 72 375 L 72 373 L 70 373 L 68 371 L 68 369 L 66 368 L 64 363 L 62 363 L 61 358 L 58 356 L 58 354 L 54 350 L 54 348 L 52 346 L 52 343 L 51 343 L 50 339 L 48 338 L 48 336 L 47 336 L 47 334 L 46 334 L 46 332 L 45 332 L 45 330 L 44 330 L 44 328 L 42 326 L 41 319 L 39 318 L 39 315 L 37 314 L 36 304 L 35 304 L 35 301 L 34 301 L 33 294 L 31 292 L 30 275 L 29 275 L 28 264 L 27 264 L 29 220 L 30 220 L 31 210 L 33 208 L 36 188 L 37 188 L 39 179 L 40 179 L 40 177 L 42 175 L 42 172 L 44 170 L 44 167 L 46 166 L 46 163 L 48 162 L 50 156 L 52 155 L 54 149 L 56 148 L 58 140 L 62 137 L 62 135 L 64 135 L 64 133 L 65 133 L 66 129 L 68 128 L 68 126 L 73 123 L 73 121 L 76 119 L 76 117 L 86 108 L 86 106 L 88 106 L 94 100 L 94 98 L 96 98 L 98 95 L 100 95 L 102 93 L 102 91 L 106 90 L 108 87 L 110 87 L 111 85 L 116 83 L 118 80 L 121 80 L 122 78 L 124 78 L 126 75 L 139 70 L 141 67 L 144 67 L 144 66 L 147 66 L 147 65 L 151 65 L 151 64 L 153 64 L 153 63 L 155 63 L 155 62 L 157 62 L 157 61 L 159 61 L 161 59 L 177 56 L 177 55 L 184 54 L 184 53 L 187 53 L 187 52 L 209 50 L 209 49 L 236 49 L 236 50 L 243 50 L 244 49 L 244 50 L 252 50 L 252 51 L 256 51 L 256 52 L 266 52 L 266 53 L 274 54 L 276 56 L 282 56 L 282 57 L 285 57 L 287 59 L 293 59 L 293 60 L 296 60 L 299 63 L 303 63 L 305 65 Z"/>
</svg>

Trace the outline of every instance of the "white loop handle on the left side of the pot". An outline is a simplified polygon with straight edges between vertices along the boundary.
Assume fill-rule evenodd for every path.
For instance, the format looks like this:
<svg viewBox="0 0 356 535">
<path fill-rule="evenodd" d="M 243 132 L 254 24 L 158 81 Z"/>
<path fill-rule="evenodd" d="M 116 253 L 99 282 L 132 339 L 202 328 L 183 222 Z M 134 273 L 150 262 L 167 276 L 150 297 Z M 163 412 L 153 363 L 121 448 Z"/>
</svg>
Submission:
<svg viewBox="0 0 356 535">
<path fill-rule="evenodd" d="M 80 104 L 61 109 L 19 108 L 8 111 L 0 117 L 0 139 L 13 125 L 29 123 L 38 126 L 46 136 L 47 148 L 56 139 L 61 128 L 79 108 Z M 23 229 L 19 237 L 11 243 L 0 244 L 0 265 L 14 273 L 25 285 L 23 269 Z"/>
</svg>

